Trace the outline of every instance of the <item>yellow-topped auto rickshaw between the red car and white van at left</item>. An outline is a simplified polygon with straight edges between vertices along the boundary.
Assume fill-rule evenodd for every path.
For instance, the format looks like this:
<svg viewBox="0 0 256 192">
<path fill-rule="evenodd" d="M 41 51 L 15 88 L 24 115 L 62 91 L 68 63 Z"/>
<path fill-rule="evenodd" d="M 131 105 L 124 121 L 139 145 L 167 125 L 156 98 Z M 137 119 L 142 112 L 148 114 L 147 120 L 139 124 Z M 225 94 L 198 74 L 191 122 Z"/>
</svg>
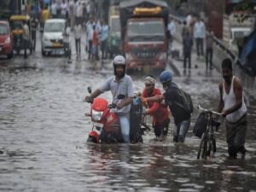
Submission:
<svg viewBox="0 0 256 192">
<path fill-rule="evenodd" d="M 23 44 L 23 21 L 26 20 L 26 23 L 29 27 L 29 43 L 28 49 L 30 50 L 30 54 L 32 54 L 32 33 L 31 33 L 31 19 L 28 15 L 12 15 L 9 18 L 9 23 L 14 35 L 14 50 L 17 55 L 20 54 L 20 50 L 24 49 Z"/>
</svg>

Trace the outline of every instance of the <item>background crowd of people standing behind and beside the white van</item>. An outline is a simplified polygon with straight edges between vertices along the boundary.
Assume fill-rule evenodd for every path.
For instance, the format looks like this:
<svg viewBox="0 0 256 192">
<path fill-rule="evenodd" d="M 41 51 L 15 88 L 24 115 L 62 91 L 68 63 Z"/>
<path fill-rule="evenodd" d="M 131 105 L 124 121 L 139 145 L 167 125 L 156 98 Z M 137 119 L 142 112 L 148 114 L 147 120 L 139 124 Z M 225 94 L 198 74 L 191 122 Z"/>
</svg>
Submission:
<svg viewBox="0 0 256 192">
<path fill-rule="evenodd" d="M 109 27 L 105 20 L 96 19 L 92 15 L 91 2 L 82 3 L 80 0 L 52 0 L 49 3 L 38 1 L 26 6 L 26 14 L 32 16 L 32 44 L 36 48 L 36 32 L 38 26 L 44 27 L 46 20 L 50 18 L 62 18 L 67 20 L 65 33 L 73 32 L 77 59 L 81 59 L 81 38 L 85 34 L 85 50 L 88 51 L 88 59 L 99 60 L 99 52 L 102 59 L 107 59 L 107 40 Z M 70 32 L 69 32 L 70 31 Z M 24 36 L 24 42 L 26 41 Z M 72 42 L 72 41 L 71 41 Z M 26 57 L 27 55 L 24 55 Z"/>
</svg>

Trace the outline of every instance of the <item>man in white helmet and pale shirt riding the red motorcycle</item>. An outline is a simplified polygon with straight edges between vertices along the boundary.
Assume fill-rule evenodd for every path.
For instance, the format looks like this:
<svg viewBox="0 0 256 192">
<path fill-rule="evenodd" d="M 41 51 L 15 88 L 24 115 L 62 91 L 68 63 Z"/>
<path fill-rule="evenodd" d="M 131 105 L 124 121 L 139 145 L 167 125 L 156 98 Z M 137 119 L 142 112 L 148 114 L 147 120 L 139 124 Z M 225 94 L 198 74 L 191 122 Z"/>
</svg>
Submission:
<svg viewBox="0 0 256 192">
<path fill-rule="evenodd" d="M 113 59 L 114 76 L 107 79 L 102 86 L 95 90 L 90 96 L 85 96 L 85 100 L 92 100 L 107 90 L 111 90 L 113 104 L 112 109 L 119 117 L 122 137 L 125 143 L 130 143 L 130 109 L 133 97 L 133 82 L 129 75 L 125 74 L 125 57 L 117 55 Z"/>
</svg>

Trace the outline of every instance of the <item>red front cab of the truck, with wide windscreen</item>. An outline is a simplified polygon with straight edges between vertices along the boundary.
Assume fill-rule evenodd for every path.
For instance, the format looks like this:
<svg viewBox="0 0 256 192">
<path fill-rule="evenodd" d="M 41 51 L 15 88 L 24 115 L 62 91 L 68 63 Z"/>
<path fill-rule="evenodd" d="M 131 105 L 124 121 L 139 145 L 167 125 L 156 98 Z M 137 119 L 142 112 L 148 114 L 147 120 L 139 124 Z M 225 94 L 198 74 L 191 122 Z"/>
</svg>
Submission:
<svg viewBox="0 0 256 192">
<path fill-rule="evenodd" d="M 125 58 L 128 68 L 145 66 L 165 69 L 166 28 L 161 18 L 132 18 L 125 35 Z"/>
</svg>

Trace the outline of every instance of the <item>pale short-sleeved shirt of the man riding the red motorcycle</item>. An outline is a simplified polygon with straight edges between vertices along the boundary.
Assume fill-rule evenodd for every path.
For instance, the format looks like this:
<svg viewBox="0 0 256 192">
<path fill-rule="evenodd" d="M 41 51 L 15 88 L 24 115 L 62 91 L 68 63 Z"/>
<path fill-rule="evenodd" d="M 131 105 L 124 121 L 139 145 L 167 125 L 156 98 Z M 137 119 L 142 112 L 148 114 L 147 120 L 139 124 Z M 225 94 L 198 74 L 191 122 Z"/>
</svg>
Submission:
<svg viewBox="0 0 256 192">
<path fill-rule="evenodd" d="M 125 77 L 117 81 L 115 79 L 115 76 L 107 79 L 107 81 L 102 84 L 102 87 L 100 88 L 102 92 L 105 92 L 107 90 L 110 90 L 113 96 L 113 102 L 114 104 L 119 104 L 120 102 L 127 99 L 127 97 L 132 97 L 133 92 L 133 82 L 129 75 L 125 74 Z M 119 95 L 124 95 L 124 99 L 118 99 Z M 114 113 L 129 113 L 131 109 L 131 105 L 127 105 L 124 108 L 121 108 L 119 110 L 113 109 Z"/>
</svg>

